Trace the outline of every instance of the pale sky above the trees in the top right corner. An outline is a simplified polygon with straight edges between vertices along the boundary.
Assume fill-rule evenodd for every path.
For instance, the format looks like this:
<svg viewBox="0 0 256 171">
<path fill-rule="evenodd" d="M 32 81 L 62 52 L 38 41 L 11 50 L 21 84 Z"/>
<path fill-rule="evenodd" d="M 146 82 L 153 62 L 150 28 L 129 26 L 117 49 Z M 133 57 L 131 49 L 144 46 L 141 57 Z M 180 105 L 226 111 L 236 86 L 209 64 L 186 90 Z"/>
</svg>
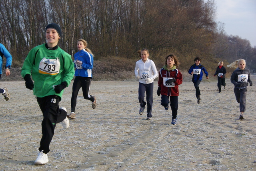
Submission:
<svg viewBox="0 0 256 171">
<path fill-rule="evenodd" d="M 215 0 L 216 22 L 225 23 L 228 35 L 239 36 L 256 46 L 256 0 Z"/>
</svg>

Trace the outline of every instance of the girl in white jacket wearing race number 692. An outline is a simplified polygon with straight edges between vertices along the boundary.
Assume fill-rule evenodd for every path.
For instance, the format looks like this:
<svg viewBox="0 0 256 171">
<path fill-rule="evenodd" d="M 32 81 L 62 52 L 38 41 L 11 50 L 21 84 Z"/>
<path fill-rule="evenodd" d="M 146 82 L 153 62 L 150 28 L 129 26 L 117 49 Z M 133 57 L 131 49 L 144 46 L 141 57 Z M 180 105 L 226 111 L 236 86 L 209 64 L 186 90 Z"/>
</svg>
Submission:
<svg viewBox="0 0 256 171">
<path fill-rule="evenodd" d="M 153 104 L 153 87 L 154 79 L 158 77 L 158 72 L 156 70 L 156 65 L 150 59 L 148 59 L 149 51 L 144 48 L 138 51 L 138 54 L 141 57 L 141 60 L 136 62 L 135 66 L 135 76 L 139 80 L 139 102 L 140 110 L 139 114 L 142 115 L 146 104 L 148 103 L 148 114 L 147 120 L 152 119 L 152 104 Z M 144 101 L 146 91 L 146 101 Z"/>
</svg>

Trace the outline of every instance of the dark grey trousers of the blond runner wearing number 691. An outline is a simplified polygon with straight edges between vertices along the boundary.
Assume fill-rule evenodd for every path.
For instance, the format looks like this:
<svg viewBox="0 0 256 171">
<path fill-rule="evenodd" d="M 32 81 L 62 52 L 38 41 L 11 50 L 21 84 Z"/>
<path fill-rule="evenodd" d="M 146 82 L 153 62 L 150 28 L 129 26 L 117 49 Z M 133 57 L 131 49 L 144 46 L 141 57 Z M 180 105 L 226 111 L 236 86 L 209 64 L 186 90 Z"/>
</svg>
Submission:
<svg viewBox="0 0 256 171">
<path fill-rule="evenodd" d="M 245 112 L 247 88 L 238 89 L 235 87 L 234 93 L 236 96 L 236 101 L 239 103 L 240 112 Z"/>
</svg>

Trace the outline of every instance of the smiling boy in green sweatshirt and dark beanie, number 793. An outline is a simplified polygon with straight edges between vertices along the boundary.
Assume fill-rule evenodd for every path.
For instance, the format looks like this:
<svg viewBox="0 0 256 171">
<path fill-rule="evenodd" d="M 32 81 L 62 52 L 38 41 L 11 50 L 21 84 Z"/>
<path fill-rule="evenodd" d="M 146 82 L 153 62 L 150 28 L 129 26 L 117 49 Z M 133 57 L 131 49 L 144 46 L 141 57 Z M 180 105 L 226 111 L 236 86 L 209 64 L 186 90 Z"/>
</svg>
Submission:
<svg viewBox="0 0 256 171">
<path fill-rule="evenodd" d="M 62 123 L 64 129 L 69 126 L 67 110 L 65 107 L 59 108 L 59 102 L 75 72 L 71 56 L 58 47 L 58 41 L 62 37 L 60 26 L 48 24 L 45 32 L 47 43 L 30 50 L 21 69 L 26 88 L 33 90 L 43 113 L 42 139 L 35 165 L 48 162 L 47 153 L 50 151 L 56 124 Z"/>
</svg>

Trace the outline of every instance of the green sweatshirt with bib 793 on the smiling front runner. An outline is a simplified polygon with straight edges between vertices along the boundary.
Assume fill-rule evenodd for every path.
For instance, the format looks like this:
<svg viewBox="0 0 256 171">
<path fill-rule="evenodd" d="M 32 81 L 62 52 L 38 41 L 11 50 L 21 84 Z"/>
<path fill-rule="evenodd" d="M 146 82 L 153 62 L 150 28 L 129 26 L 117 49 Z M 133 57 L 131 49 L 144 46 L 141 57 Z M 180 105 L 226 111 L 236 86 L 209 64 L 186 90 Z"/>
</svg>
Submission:
<svg viewBox="0 0 256 171">
<path fill-rule="evenodd" d="M 58 95 L 54 91 L 54 85 L 66 82 L 70 84 L 74 76 L 74 63 L 71 56 L 61 48 L 48 50 L 45 44 L 36 46 L 28 53 L 21 69 L 21 76 L 32 75 L 34 80 L 34 95 L 45 97 L 48 95 Z"/>
</svg>

